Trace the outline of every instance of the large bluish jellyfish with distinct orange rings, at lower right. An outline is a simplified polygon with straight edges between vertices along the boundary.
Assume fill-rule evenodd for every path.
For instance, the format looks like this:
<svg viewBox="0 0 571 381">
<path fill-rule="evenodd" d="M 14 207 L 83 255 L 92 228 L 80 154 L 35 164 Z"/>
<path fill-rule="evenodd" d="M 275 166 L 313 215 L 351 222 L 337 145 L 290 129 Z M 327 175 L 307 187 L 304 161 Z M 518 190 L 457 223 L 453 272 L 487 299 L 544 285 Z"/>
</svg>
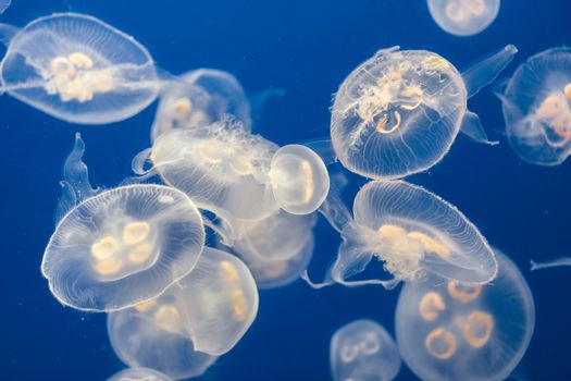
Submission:
<svg viewBox="0 0 571 381">
<path fill-rule="evenodd" d="M 533 296 L 516 265 L 496 250 L 498 276 L 480 285 L 431 275 L 400 292 L 400 354 L 423 380 L 505 380 L 535 324 Z"/>
</svg>

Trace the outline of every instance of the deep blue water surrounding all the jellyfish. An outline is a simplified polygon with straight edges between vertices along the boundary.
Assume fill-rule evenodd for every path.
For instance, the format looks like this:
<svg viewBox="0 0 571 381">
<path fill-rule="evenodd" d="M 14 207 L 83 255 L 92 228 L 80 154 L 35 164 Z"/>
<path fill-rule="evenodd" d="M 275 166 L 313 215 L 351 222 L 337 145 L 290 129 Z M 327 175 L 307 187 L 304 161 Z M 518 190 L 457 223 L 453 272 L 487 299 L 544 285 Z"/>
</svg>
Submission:
<svg viewBox="0 0 571 381">
<path fill-rule="evenodd" d="M 509 75 L 535 52 L 571 45 L 569 0 L 505 0 L 495 23 L 468 38 L 440 30 L 423 0 L 13 0 L 0 21 L 24 25 L 61 11 L 91 14 L 135 36 L 167 72 L 216 67 L 235 74 L 250 94 L 283 88 L 285 97 L 268 102 L 257 130 L 281 145 L 328 134 L 332 94 L 380 48 L 432 50 L 462 67 L 514 44 L 520 52 Z M 541 168 L 519 160 L 501 135 L 500 103 L 489 89 L 471 99 L 470 108 L 501 145 L 459 137 L 442 163 L 410 180 L 458 206 L 527 279 L 537 320 L 517 378 L 569 380 L 571 268 L 531 273 L 529 260 L 571 254 L 571 162 Z M 104 316 L 59 305 L 39 266 L 74 133 L 84 136 L 94 182 L 111 187 L 149 146 L 154 110 L 156 103 L 121 123 L 79 126 L 0 97 L 0 379 L 103 380 L 123 368 L 110 348 Z M 355 194 L 364 181 L 350 180 L 348 193 Z M 315 234 L 311 271 L 321 274 L 339 239 L 323 220 Z M 394 333 L 398 290 L 313 291 L 298 281 L 262 291 L 256 322 L 202 379 L 327 380 L 333 332 L 371 318 Z M 404 367 L 398 379 L 414 376 Z"/>
</svg>

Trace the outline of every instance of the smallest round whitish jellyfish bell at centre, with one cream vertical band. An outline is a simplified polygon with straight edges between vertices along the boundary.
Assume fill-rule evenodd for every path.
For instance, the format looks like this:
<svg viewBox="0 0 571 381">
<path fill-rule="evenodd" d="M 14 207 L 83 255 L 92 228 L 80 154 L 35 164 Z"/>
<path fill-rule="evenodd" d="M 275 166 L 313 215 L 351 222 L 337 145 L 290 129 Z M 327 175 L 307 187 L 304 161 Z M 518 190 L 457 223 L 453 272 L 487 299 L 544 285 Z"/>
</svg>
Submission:
<svg viewBox="0 0 571 381">
<path fill-rule="evenodd" d="M 275 200 L 293 214 L 315 211 L 330 190 L 325 163 L 306 146 L 280 148 L 272 158 L 270 177 Z"/>
</svg>

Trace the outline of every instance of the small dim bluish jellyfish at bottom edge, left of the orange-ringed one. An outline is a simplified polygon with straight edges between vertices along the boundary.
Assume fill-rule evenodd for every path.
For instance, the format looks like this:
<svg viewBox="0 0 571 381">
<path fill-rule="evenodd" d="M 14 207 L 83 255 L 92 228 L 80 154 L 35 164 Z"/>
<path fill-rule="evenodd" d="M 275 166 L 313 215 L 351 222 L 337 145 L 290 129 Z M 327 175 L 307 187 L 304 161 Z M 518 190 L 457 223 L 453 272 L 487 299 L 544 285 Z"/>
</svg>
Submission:
<svg viewBox="0 0 571 381">
<path fill-rule="evenodd" d="M 390 381 L 400 370 L 400 355 L 388 332 L 372 320 L 356 320 L 331 337 L 334 381 Z"/>
</svg>

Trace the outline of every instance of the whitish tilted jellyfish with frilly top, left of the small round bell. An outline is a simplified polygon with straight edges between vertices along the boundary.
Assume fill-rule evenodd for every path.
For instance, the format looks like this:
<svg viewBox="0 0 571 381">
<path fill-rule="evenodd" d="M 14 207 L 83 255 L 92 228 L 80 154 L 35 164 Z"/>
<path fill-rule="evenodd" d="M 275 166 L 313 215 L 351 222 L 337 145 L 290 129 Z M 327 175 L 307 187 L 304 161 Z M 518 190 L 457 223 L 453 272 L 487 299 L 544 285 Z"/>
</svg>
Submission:
<svg viewBox="0 0 571 381">
<path fill-rule="evenodd" d="M 149 159 L 166 184 L 199 208 L 227 219 L 256 220 L 278 209 L 269 181 L 276 149 L 239 123 L 224 120 L 160 135 Z"/>
</svg>

